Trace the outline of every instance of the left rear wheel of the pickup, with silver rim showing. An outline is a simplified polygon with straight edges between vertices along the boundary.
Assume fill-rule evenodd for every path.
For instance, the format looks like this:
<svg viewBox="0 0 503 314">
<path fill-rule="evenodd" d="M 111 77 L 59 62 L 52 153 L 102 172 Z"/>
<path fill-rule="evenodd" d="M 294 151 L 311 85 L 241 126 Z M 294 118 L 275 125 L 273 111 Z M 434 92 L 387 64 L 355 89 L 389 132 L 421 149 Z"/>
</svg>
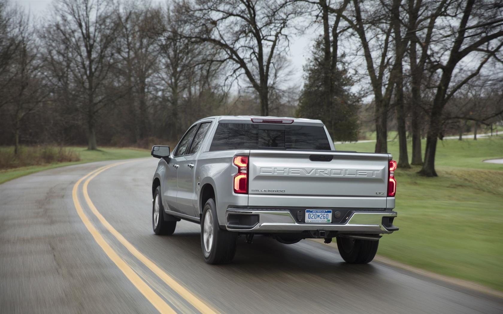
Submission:
<svg viewBox="0 0 503 314">
<path fill-rule="evenodd" d="M 236 254 L 237 233 L 218 226 L 215 200 L 208 199 L 201 220 L 201 249 L 208 264 L 230 263 Z"/>
</svg>

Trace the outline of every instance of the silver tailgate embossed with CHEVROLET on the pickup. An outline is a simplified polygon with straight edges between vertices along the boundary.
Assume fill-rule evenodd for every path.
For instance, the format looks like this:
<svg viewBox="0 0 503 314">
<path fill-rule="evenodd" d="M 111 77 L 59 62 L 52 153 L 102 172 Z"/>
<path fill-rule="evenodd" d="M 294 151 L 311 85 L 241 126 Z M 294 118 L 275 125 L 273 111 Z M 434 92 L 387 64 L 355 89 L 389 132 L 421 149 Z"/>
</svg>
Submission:
<svg viewBox="0 0 503 314">
<path fill-rule="evenodd" d="M 248 206 L 386 208 L 388 154 L 250 150 Z"/>
</svg>

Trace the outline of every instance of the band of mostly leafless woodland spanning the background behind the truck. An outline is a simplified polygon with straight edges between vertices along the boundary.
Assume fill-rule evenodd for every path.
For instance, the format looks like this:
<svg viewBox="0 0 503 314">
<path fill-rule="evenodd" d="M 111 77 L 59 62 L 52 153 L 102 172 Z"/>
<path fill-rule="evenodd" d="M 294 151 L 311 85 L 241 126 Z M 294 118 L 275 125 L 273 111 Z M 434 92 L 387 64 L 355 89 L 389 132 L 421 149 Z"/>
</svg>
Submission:
<svg viewBox="0 0 503 314">
<path fill-rule="evenodd" d="M 0 0 L 0 145 L 147 146 L 211 115 L 298 116 L 335 141 L 376 131 L 376 152 L 398 131 L 399 167 L 435 176 L 439 139 L 503 120 L 502 47 L 498 0 L 61 0 L 39 19 Z"/>
</svg>

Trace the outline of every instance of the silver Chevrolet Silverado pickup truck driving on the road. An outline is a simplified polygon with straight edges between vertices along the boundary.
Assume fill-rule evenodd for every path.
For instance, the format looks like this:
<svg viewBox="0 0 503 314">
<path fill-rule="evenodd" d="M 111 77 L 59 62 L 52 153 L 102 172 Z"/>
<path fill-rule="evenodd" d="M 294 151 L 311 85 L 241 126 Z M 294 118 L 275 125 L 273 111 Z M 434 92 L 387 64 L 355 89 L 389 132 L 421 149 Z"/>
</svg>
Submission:
<svg viewBox="0 0 503 314">
<path fill-rule="evenodd" d="M 348 263 L 368 263 L 382 234 L 397 231 L 390 154 L 336 151 L 319 120 L 220 116 L 195 122 L 160 158 L 152 227 L 171 235 L 181 219 L 201 225 L 206 262 L 230 262 L 237 238 L 281 243 L 337 239 Z"/>
</svg>

